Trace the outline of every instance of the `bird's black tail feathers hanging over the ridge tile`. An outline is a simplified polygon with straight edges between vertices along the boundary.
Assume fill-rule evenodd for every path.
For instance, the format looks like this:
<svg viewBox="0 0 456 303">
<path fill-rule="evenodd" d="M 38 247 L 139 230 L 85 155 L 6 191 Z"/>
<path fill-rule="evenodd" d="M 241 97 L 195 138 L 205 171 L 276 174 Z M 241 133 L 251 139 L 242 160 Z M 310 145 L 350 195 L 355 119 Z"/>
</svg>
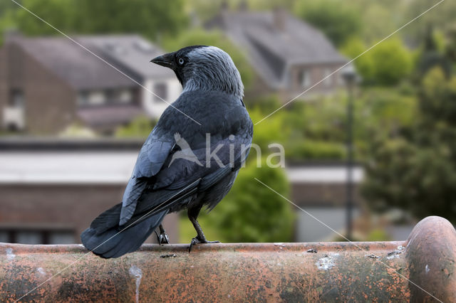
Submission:
<svg viewBox="0 0 456 303">
<path fill-rule="evenodd" d="M 81 234 L 83 245 L 95 255 L 104 258 L 120 257 L 138 250 L 168 212 L 162 211 L 128 228 L 128 225 L 118 225 L 121 208 L 120 203 L 108 209 L 95 218 L 90 228 Z"/>
</svg>

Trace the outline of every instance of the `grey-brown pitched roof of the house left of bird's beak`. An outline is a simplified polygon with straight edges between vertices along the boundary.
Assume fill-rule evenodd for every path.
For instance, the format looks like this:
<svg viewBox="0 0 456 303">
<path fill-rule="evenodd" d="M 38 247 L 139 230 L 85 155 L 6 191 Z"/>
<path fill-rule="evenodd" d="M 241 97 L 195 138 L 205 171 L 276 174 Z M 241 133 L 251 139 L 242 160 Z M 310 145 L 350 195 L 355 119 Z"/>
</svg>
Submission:
<svg viewBox="0 0 456 303">
<path fill-rule="evenodd" d="M 76 36 L 74 39 L 138 82 L 150 77 L 173 76 L 170 70 L 149 63 L 162 51 L 140 36 Z M 14 38 L 14 43 L 77 90 L 137 85 L 68 38 L 20 36 Z"/>
</svg>

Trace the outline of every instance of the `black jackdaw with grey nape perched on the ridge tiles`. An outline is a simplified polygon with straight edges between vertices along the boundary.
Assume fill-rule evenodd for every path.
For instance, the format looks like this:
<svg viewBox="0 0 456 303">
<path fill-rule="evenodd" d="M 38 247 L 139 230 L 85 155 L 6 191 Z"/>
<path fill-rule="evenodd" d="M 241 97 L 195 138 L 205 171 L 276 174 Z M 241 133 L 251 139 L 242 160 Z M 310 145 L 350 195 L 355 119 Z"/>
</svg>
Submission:
<svg viewBox="0 0 456 303">
<path fill-rule="evenodd" d="M 244 85 L 227 53 L 189 46 L 151 62 L 174 70 L 182 94 L 142 145 L 122 203 L 81 234 L 83 245 L 100 257 L 138 250 L 156 228 L 159 243 L 168 243 L 161 222 L 182 209 L 197 231 L 189 251 L 197 243 L 212 243 L 199 226 L 199 211 L 211 210 L 228 193 L 252 143 Z"/>
</svg>

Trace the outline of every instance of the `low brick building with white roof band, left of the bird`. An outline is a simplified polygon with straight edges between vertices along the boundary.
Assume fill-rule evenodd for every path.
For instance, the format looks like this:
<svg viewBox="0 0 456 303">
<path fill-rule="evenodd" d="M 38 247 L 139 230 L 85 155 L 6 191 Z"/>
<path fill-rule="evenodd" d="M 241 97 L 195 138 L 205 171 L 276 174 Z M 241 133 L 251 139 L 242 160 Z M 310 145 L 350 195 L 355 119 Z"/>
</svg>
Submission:
<svg viewBox="0 0 456 303">
<path fill-rule="evenodd" d="M 122 200 L 141 145 L 136 140 L 1 139 L 0 242 L 81 243 L 79 235 L 90 222 Z M 163 224 L 175 243 L 177 214 Z M 153 234 L 147 240 L 155 241 Z"/>
</svg>

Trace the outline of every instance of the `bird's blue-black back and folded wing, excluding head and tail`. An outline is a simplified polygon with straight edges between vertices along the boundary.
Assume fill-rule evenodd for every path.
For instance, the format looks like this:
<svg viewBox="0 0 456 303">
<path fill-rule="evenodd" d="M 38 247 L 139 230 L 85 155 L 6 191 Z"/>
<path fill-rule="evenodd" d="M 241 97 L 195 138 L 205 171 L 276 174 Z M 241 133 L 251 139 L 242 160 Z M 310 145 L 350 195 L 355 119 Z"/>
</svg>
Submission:
<svg viewBox="0 0 456 303">
<path fill-rule="evenodd" d="M 227 97 L 210 93 L 187 97 L 208 113 L 202 115 L 203 111 L 199 109 L 194 113 L 193 117 L 202 126 L 194 122 L 188 124 L 188 121 L 182 125 L 185 120 L 170 116 L 173 109 L 168 107 L 160 118 L 162 122 L 158 122 L 140 151 L 132 179 L 125 190 L 120 225 L 144 213 L 153 216 L 160 209 L 171 208 L 201 188 L 216 184 L 245 161 L 252 142 L 252 121 L 242 102 L 238 100 L 239 105 L 232 106 L 229 105 L 232 100 L 225 100 Z M 178 107 L 179 103 L 174 105 Z M 189 112 L 188 108 L 182 110 Z M 177 150 L 176 132 L 195 154 L 193 161 L 186 157 L 172 159 Z M 217 158 L 207 158 L 207 133 L 211 135 L 209 154 L 218 148 Z M 142 197 L 146 188 L 147 195 Z"/>
</svg>

